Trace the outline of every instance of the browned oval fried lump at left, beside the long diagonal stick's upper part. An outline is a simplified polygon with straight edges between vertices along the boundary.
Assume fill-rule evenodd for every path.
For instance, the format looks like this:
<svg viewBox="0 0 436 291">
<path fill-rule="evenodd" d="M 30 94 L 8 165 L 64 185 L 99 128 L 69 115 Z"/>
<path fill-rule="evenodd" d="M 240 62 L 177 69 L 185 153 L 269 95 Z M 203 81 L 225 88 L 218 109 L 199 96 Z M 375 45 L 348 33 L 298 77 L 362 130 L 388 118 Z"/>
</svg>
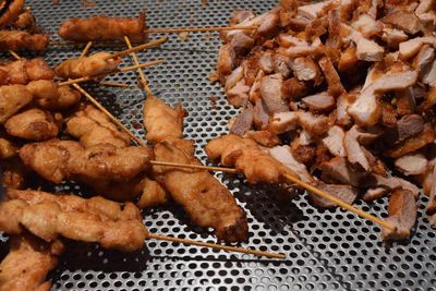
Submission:
<svg viewBox="0 0 436 291">
<path fill-rule="evenodd" d="M 81 93 L 69 86 L 58 86 L 51 80 L 32 81 L 26 88 L 40 107 L 48 110 L 65 110 L 81 100 Z"/>
</svg>

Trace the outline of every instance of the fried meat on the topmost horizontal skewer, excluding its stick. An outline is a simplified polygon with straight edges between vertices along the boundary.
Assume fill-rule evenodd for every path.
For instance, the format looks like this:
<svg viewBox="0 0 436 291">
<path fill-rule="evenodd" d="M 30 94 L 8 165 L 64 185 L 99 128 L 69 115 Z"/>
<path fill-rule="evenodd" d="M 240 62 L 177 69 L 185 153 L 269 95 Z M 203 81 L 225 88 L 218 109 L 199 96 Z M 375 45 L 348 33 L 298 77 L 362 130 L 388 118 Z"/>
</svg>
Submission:
<svg viewBox="0 0 436 291">
<path fill-rule="evenodd" d="M 86 43 L 94 40 L 121 40 L 124 36 L 133 43 L 144 43 L 147 40 L 145 33 L 145 13 L 140 13 L 140 17 L 108 17 L 104 15 L 88 19 L 71 19 L 63 21 L 59 27 L 60 37 Z"/>
</svg>

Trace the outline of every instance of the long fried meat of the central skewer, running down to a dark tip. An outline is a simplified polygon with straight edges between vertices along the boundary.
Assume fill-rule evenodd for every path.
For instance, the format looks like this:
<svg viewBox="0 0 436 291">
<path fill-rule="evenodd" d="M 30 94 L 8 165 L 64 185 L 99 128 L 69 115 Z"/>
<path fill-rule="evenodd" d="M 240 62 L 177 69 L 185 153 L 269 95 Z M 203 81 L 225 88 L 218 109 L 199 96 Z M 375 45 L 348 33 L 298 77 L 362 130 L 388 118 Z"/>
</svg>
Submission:
<svg viewBox="0 0 436 291">
<path fill-rule="evenodd" d="M 148 98 L 152 99 L 144 104 L 144 124 L 150 142 L 156 143 L 156 160 L 202 165 L 194 156 L 193 141 L 180 140 L 183 109 L 171 109 L 156 97 Z M 153 175 L 172 199 L 182 205 L 195 225 L 214 228 L 217 238 L 227 242 L 247 238 L 245 213 L 229 190 L 209 172 L 154 166 Z M 147 201 L 146 197 L 144 201 Z"/>
</svg>

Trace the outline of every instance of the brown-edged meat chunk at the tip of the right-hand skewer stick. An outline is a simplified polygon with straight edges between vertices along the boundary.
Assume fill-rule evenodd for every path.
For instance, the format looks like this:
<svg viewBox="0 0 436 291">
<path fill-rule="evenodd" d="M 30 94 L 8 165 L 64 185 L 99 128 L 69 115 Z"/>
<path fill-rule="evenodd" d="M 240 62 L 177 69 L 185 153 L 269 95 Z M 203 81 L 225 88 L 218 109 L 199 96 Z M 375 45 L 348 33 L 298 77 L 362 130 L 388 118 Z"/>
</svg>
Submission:
<svg viewBox="0 0 436 291">
<path fill-rule="evenodd" d="M 395 231 L 384 228 L 382 238 L 389 240 L 407 240 L 410 238 L 411 228 L 416 223 L 417 207 L 413 194 L 404 189 L 393 191 L 389 198 L 389 217 L 387 222 L 395 226 Z"/>
</svg>

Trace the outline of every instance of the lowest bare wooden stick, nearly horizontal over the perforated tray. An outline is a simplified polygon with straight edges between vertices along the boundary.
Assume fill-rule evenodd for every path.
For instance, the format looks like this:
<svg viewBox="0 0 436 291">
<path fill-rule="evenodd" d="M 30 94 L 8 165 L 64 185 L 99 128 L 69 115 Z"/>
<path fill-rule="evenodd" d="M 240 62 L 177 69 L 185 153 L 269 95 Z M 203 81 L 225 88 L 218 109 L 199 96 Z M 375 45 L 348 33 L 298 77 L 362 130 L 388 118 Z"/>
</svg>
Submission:
<svg viewBox="0 0 436 291">
<path fill-rule="evenodd" d="M 155 240 L 159 240 L 159 241 L 170 241 L 170 242 L 177 242 L 177 243 L 183 243 L 183 244 L 193 244 L 193 245 L 198 245 L 198 246 L 225 250 L 225 251 L 228 251 L 228 252 L 238 252 L 238 253 L 251 254 L 251 255 L 256 255 L 256 256 L 266 256 L 266 257 L 282 258 L 282 259 L 286 258 L 284 254 L 275 254 L 275 253 L 250 250 L 250 248 L 231 246 L 231 245 L 197 242 L 197 241 L 178 239 L 178 238 L 172 238 L 172 237 L 157 234 L 157 233 L 149 233 L 148 238 L 155 239 Z"/>
</svg>

